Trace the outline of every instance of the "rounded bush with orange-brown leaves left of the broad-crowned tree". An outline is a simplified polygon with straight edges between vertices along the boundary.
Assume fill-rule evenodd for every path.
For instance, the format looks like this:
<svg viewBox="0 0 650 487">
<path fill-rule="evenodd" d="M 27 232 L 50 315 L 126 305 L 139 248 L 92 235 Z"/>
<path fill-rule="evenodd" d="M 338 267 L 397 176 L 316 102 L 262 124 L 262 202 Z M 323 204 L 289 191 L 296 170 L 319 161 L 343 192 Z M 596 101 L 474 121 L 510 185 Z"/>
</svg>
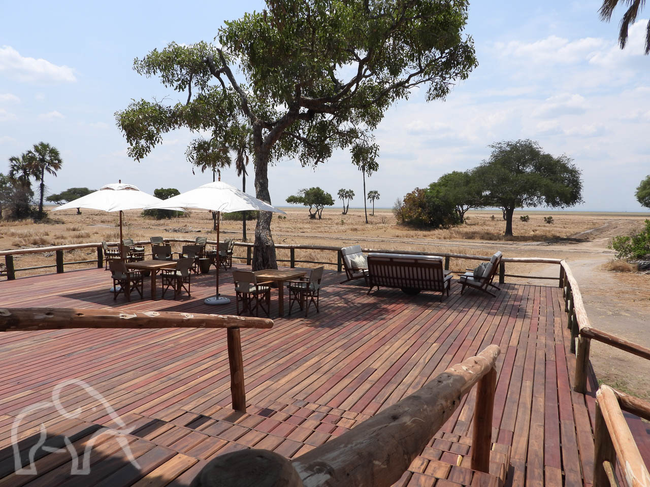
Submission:
<svg viewBox="0 0 650 487">
<path fill-rule="evenodd" d="M 404 196 L 401 215 L 406 225 L 419 228 L 448 228 L 460 223 L 456 207 L 434 191 L 415 188 Z"/>
</svg>

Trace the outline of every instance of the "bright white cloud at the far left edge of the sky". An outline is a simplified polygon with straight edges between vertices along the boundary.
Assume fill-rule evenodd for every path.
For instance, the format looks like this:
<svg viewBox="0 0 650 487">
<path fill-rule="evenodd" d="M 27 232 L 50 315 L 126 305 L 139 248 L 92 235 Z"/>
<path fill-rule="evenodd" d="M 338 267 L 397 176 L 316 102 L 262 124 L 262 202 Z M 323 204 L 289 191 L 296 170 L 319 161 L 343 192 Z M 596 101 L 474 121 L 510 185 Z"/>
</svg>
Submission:
<svg viewBox="0 0 650 487">
<path fill-rule="evenodd" d="M 0 47 L 0 75 L 23 82 L 73 82 L 77 81 L 74 70 L 57 66 L 45 59 L 21 56 L 10 45 Z"/>
</svg>

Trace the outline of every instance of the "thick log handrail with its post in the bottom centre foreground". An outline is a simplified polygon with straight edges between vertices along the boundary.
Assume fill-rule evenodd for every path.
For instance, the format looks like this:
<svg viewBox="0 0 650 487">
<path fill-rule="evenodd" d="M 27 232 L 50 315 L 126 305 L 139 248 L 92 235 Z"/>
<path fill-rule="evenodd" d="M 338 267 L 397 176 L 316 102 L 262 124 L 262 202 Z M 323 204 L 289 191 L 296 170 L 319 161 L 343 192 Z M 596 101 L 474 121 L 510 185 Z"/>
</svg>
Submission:
<svg viewBox="0 0 650 487">
<path fill-rule="evenodd" d="M 497 345 L 489 345 L 395 405 L 292 461 L 259 449 L 227 453 L 209 462 L 192 485 L 391 486 L 454 414 L 474 384 L 478 390 L 471 468 L 489 473 L 499 352 Z"/>
</svg>

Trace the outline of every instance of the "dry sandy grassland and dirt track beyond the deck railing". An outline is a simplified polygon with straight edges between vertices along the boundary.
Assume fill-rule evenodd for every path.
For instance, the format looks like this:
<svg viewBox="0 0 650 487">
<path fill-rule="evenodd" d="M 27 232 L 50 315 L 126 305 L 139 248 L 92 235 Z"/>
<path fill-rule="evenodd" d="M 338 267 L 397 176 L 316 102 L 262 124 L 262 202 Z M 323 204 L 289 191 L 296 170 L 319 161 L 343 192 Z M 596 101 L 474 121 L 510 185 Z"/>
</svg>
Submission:
<svg viewBox="0 0 650 487">
<path fill-rule="evenodd" d="M 286 218 L 274 217 L 272 231 L 276 243 L 318 243 L 320 245 L 361 244 L 375 249 L 411 249 L 432 252 L 453 252 L 491 255 L 497 250 L 506 256 L 551 256 L 565 258 L 580 284 L 588 316 L 594 327 L 612 332 L 632 342 L 650 347 L 650 275 L 606 271 L 603 264 L 614 257 L 607 248 L 613 236 L 629 234 L 640 229 L 648 214 L 615 214 L 592 212 L 553 212 L 554 223 L 545 225 L 546 212 L 523 211 L 515 213 L 515 238 L 504 240 L 501 235 L 504 222 L 499 212 L 477 211 L 468 214 L 465 225 L 449 230 L 422 231 L 396 225 L 389 210 L 376 210 L 365 224 L 363 210 L 350 209 L 346 215 L 341 208 L 326 208 L 322 220 L 307 218 L 305 208 L 285 208 Z M 530 216 L 522 222 L 521 215 Z M 119 232 L 116 214 L 84 210 L 51 213 L 54 221 L 47 224 L 0 221 L 0 249 L 60 245 L 64 243 L 115 241 Z M 492 218 L 492 217 L 495 218 Z M 248 239 L 254 236 L 255 221 L 247 225 Z M 153 235 L 175 238 L 194 238 L 211 233 L 209 213 L 193 213 L 185 218 L 156 221 L 142 218 L 139 212 L 126 212 L 125 236 L 136 240 Z M 240 239 L 241 221 L 223 221 L 224 236 Z M 223 238 L 223 237 L 222 237 Z M 236 255 L 244 255 L 236 249 Z M 65 260 L 95 258 L 92 249 L 66 253 Z M 278 251 L 278 258 L 289 258 L 288 251 Z M 331 253 L 296 251 L 296 258 L 335 262 Z M 16 268 L 53 264 L 54 255 L 35 254 L 16 256 Z M 2 263 L 3 264 L 3 263 Z M 452 259 L 450 268 L 460 271 L 473 267 L 475 261 Z M 80 264 L 77 267 L 87 267 Z M 75 266 L 70 266 L 75 267 Z M 66 267 L 67 268 L 67 267 Z M 1 266 L 0 266 L 1 270 Z M 29 273 L 51 272 L 23 271 Z M 557 266 L 546 264 L 509 264 L 506 273 L 521 275 L 558 275 Z M 1 278 L 4 279 L 4 278 Z M 1 282 L 1 281 L 0 281 Z M 515 282 L 549 284 L 552 281 L 518 279 Z M 0 284 L 1 286 L 1 284 Z M 650 361 L 617 351 L 607 345 L 593 342 L 591 362 L 599 379 L 641 397 L 650 397 Z"/>
</svg>

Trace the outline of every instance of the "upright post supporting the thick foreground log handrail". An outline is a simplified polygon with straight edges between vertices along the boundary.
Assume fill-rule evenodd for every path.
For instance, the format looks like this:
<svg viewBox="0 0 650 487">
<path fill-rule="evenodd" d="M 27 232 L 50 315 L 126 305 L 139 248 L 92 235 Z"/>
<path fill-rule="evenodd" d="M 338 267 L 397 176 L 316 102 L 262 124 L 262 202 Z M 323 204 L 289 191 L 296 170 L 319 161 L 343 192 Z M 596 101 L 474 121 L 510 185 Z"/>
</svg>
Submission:
<svg viewBox="0 0 650 487">
<path fill-rule="evenodd" d="M 492 368 L 476 385 L 474 431 L 472 434 L 473 470 L 489 473 L 489 454 L 492 445 L 492 415 L 494 394 L 497 390 L 497 369 Z"/>
</svg>

